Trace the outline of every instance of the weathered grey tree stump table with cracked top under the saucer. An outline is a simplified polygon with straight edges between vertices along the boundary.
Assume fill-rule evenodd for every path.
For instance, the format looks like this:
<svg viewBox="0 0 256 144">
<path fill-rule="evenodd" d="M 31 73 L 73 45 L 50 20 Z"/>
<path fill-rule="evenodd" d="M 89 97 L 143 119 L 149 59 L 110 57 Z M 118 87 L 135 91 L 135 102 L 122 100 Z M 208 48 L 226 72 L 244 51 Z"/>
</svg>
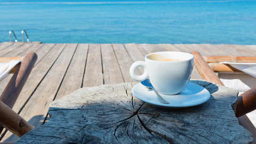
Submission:
<svg viewBox="0 0 256 144">
<path fill-rule="evenodd" d="M 161 109 L 131 92 L 137 83 L 84 87 L 51 103 L 48 123 L 16 143 L 251 143 L 231 104 L 237 91 L 207 81 L 211 98 L 184 109 Z"/>
</svg>

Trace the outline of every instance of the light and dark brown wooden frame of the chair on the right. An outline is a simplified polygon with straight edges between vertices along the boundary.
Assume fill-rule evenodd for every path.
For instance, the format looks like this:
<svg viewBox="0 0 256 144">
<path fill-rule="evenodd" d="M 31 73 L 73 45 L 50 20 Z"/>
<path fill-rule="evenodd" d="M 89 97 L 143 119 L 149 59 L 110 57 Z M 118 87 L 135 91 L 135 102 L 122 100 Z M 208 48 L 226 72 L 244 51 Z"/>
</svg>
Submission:
<svg viewBox="0 0 256 144">
<path fill-rule="evenodd" d="M 255 62 L 256 60 L 256 58 L 254 57 L 232 57 L 232 56 L 231 57 L 218 56 L 218 58 L 206 57 L 205 58 L 206 60 L 207 59 L 215 60 L 216 62 L 209 66 L 199 52 L 194 51 L 194 52 L 191 52 L 191 54 L 194 55 L 194 66 L 198 70 L 199 74 L 206 81 L 210 81 L 220 85 L 223 85 L 223 83 L 220 81 L 219 77 L 214 73 L 213 69 L 215 69 L 215 71 L 226 70 L 227 72 L 232 72 L 232 71 L 236 72 L 237 69 L 234 69 L 227 65 L 219 65 L 219 63 L 217 62 L 228 61 L 228 60 L 229 61 L 233 60 L 231 62 L 245 62 L 244 60 L 247 60 L 246 62 Z M 237 72 L 240 72 L 240 71 L 237 71 Z M 246 91 L 245 93 L 239 95 L 237 98 L 237 101 L 232 105 L 235 115 L 238 118 L 239 124 L 253 134 L 253 143 L 256 143 L 256 129 L 252 124 L 252 122 L 250 121 L 250 119 L 245 114 L 250 113 L 251 111 L 256 109 L 255 103 L 256 103 L 256 86 L 250 89 L 249 91 Z"/>
</svg>

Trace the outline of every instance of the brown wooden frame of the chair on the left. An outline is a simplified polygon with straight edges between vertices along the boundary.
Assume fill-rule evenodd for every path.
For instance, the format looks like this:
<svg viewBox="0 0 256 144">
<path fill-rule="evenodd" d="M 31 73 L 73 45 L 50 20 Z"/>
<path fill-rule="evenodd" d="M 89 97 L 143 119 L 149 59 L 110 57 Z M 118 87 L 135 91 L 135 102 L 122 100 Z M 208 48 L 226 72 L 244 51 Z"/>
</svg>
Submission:
<svg viewBox="0 0 256 144">
<path fill-rule="evenodd" d="M 34 129 L 25 119 L 15 113 L 12 108 L 36 63 L 37 55 L 34 52 L 28 52 L 23 58 L 0 58 L 0 62 L 21 59 L 21 63 L 10 71 L 10 73 L 14 74 L 0 96 L 0 133 L 4 127 L 18 137 Z"/>
</svg>

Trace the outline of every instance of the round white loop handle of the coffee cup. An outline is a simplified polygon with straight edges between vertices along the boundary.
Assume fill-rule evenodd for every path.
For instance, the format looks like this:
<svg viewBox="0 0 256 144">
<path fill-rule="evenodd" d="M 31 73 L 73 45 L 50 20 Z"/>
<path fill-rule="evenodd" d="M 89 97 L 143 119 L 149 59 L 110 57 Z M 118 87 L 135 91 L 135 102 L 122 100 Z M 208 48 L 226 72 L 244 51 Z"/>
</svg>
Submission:
<svg viewBox="0 0 256 144">
<path fill-rule="evenodd" d="M 138 68 L 138 67 L 143 67 L 144 69 L 144 73 L 141 75 L 141 76 L 138 76 L 136 73 L 135 73 L 135 70 Z M 132 79 L 134 79 L 135 81 L 144 81 L 145 79 L 148 78 L 148 66 L 147 66 L 147 63 L 145 61 L 136 61 L 132 64 L 132 66 L 130 67 L 130 75 L 132 77 Z"/>
</svg>

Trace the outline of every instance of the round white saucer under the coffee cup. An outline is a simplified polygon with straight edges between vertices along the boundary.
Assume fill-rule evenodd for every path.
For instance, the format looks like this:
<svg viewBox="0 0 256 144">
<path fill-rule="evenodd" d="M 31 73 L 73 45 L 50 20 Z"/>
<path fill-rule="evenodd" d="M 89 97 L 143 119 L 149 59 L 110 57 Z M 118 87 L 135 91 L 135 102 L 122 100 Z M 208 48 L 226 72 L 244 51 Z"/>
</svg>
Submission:
<svg viewBox="0 0 256 144">
<path fill-rule="evenodd" d="M 132 87 L 132 94 L 150 105 L 167 109 L 180 109 L 200 105 L 209 100 L 211 96 L 210 92 L 204 87 L 190 82 L 180 94 L 165 95 L 159 93 L 169 104 L 161 103 L 155 92 L 152 89 L 147 89 L 141 83 Z"/>
</svg>

